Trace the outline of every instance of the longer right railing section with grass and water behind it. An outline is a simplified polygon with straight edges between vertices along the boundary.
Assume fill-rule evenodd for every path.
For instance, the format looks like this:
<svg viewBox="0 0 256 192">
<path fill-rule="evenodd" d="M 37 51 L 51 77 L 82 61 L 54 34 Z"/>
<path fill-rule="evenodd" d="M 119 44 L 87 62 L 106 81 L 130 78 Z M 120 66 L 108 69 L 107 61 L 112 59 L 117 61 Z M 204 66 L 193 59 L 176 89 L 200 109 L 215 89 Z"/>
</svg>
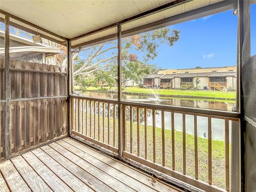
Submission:
<svg viewBox="0 0 256 192">
<path fill-rule="evenodd" d="M 123 157 L 206 191 L 230 190 L 229 133 L 237 131 L 239 119 L 143 105 L 123 108 Z"/>
</svg>

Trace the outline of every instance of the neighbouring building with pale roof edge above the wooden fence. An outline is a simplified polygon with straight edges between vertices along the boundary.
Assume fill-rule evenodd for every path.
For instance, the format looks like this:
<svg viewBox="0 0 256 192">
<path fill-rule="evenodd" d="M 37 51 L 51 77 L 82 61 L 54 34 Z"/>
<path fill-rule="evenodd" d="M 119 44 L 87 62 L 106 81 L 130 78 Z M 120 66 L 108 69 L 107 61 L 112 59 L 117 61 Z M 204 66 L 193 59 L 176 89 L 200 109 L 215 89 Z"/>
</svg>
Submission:
<svg viewBox="0 0 256 192">
<path fill-rule="evenodd" d="M 0 44 L 4 45 L 5 31 L 0 29 Z M 34 43 L 33 40 L 10 33 L 10 60 L 21 60 L 55 65 L 56 55 L 61 50 L 43 43 Z M 0 48 L 0 57 L 4 57 L 4 47 Z"/>
</svg>

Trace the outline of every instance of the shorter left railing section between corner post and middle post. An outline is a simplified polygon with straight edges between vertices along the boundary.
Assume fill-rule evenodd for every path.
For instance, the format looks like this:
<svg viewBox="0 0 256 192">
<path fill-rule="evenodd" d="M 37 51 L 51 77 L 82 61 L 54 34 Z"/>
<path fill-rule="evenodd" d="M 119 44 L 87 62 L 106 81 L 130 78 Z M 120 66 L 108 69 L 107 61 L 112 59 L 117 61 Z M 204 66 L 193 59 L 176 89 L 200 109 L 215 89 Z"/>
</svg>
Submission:
<svg viewBox="0 0 256 192">
<path fill-rule="evenodd" d="M 71 134 L 118 153 L 117 101 L 71 98 Z"/>
</svg>

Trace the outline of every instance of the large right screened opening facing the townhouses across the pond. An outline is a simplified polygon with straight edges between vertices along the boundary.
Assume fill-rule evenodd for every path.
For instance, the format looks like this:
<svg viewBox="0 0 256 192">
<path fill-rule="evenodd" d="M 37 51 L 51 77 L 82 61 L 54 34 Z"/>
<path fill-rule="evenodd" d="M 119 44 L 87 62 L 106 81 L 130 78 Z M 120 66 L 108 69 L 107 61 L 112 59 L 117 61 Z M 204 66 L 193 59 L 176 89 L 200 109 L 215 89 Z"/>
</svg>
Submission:
<svg viewBox="0 0 256 192">
<path fill-rule="evenodd" d="M 150 29 L 138 32 L 131 29 L 139 21 L 122 25 L 123 100 L 180 106 L 180 102 L 171 99 L 193 97 L 196 108 L 219 110 L 219 104 L 217 107 L 209 102 L 209 98 L 215 98 L 223 104 L 222 110 L 232 110 L 236 105 L 237 84 L 237 15 L 233 10 L 181 23 L 172 21 L 173 25 L 165 23 L 166 27 L 151 25 Z M 209 74 L 217 73 L 229 73 L 227 85 L 210 87 Z M 166 75 L 173 79 L 168 87 L 161 85 Z M 146 83 L 149 76 L 154 76 L 154 86 Z M 127 85 L 130 81 L 134 83 Z M 211 81 L 226 82 L 226 79 Z"/>
</svg>

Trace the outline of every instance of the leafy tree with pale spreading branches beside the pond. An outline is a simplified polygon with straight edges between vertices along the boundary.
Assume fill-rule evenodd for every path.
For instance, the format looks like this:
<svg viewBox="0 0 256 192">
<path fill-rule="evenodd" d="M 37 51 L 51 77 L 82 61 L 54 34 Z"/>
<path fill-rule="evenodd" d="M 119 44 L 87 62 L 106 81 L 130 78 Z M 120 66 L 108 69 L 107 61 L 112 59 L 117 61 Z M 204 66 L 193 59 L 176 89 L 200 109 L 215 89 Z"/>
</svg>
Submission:
<svg viewBox="0 0 256 192">
<path fill-rule="evenodd" d="M 138 35 L 122 38 L 122 81 L 132 79 L 139 82 L 142 76 L 157 73 L 156 65 L 148 65 L 149 59 L 157 57 L 157 47 L 162 43 L 173 46 L 179 39 L 180 31 L 161 28 Z M 77 51 L 79 53 L 77 53 Z M 80 47 L 73 54 L 74 77 L 80 80 L 86 77 L 96 78 L 98 71 L 106 73 L 111 78 L 117 77 L 117 41 L 110 41 L 89 47 Z M 76 82 L 79 85 L 81 81 Z"/>
</svg>

